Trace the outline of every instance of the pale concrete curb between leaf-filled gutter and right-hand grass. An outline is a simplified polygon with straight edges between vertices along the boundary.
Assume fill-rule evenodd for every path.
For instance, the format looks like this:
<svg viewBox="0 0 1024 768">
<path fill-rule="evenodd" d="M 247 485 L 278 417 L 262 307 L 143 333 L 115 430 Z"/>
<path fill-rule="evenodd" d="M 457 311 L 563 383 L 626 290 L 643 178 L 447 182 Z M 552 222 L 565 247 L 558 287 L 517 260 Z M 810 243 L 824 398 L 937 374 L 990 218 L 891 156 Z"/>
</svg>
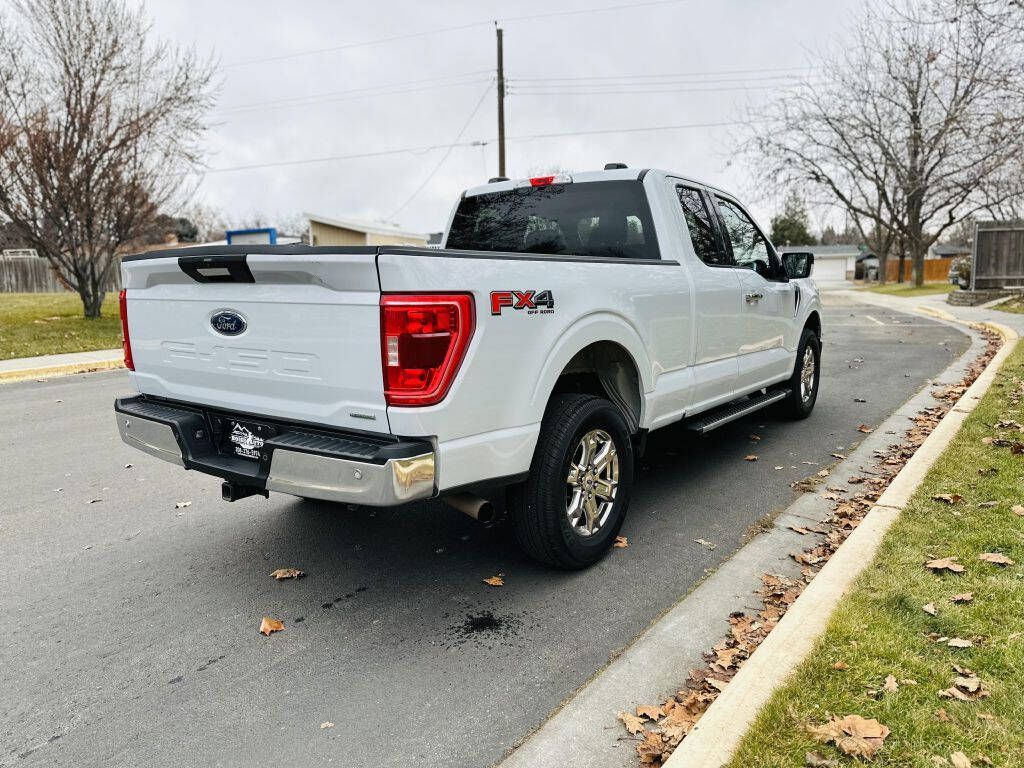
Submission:
<svg viewBox="0 0 1024 768">
<path fill-rule="evenodd" d="M 929 307 L 918 309 L 933 313 Z M 935 316 L 942 314 L 945 313 L 937 310 Z M 949 318 L 964 323 L 952 315 Z M 726 765 L 772 693 L 790 678 L 824 633 L 840 599 L 870 564 L 886 531 L 899 517 L 925 474 L 949 445 L 1017 345 L 1018 335 L 1012 329 L 997 323 L 983 325 L 1002 336 L 1002 347 L 893 478 L 856 530 L 836 551 L 722 694 L 708 708 L 665 763 L 666 768 L 720 768 Z"/>
</svg>

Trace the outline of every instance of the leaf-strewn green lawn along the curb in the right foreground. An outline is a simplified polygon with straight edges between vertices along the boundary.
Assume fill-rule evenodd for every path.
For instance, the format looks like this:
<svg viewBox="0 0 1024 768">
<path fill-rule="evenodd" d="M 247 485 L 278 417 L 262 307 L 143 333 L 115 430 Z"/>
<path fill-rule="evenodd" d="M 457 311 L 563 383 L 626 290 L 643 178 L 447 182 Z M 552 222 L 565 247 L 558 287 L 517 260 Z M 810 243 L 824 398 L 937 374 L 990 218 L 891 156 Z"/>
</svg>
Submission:
<svg viewBox="0 0 1024 768">
<path fill-rule="evenodd" d="M 1024 343 L 932 467 L 811 655 L 762 711 L 731 768 L 799 768 L 809 752 L 839 766 L 936 768 L 951 762 L 933 756 L 949 760 L 956 752 L 976 768 L 1024 765 L 1024 516 L 1013 510 L 1024 504 L 1024 457 L 982 442 L 1024 435 L 1006 421 L 996 428 L 1000 420 L 1024 423 Z M 963 501 L 934 501 L 937 494 L 959 494 Z M 988 552 L 1016 564 L 981 561 Z M 958 558 L 965 571 L 924 567 L 943 557 Z M 970 602 L 949 599 L 968 592 Z M 936 615 L 922 609 L 928 603 Z M 940 638 L 974 645 L 949 647 Z M 847 668 L 836 669 L 839 663 Z M 940 697 L 956 677 L 953 665 L 972 670 L 990 695 Z M 888 675 L 916 684 L 881 693 Z M 865 763 L 808 735 L 808 725 L 830 715 L 877 718 L 892 732 Z"/>
</svg>

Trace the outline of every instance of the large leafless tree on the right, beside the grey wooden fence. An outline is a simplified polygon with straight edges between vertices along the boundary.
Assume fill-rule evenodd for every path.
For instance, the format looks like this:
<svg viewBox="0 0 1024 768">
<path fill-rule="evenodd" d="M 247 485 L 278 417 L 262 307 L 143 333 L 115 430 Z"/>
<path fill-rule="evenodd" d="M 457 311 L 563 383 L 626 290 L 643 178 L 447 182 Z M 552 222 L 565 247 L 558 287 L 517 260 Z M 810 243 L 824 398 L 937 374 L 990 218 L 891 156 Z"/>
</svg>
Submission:
<svg viewBox="0 0 1024 768">
<path fill-rule="evenodd" d="M 885 261 L 924 280 L 929 247 L 956 222 L 1021 200 L 1024 47 L 976 1 L 869 3 L 819 76 L 756 115 L 748 144 L 781 183 L 810 183 Z"/>
</svg>

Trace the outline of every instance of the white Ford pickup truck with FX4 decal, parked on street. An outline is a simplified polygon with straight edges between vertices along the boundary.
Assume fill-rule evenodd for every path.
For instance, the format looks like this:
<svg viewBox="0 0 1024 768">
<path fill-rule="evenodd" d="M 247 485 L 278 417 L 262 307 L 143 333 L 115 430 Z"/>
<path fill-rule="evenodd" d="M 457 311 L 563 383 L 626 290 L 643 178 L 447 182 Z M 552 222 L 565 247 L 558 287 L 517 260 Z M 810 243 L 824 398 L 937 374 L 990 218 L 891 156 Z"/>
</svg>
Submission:
<svg viewBox="0 0 1024 768">
<path fill-rule="evenodd" d="M 439 250 L 128 256 L 118 428 L 227 501 L 441 497 L 483 519 L 493 499 L 528 554 L 580 568 L 648 431 L 811 413 L 812 263 L 727 193 L 621 164 L 467 189 Z"/>
</svg>

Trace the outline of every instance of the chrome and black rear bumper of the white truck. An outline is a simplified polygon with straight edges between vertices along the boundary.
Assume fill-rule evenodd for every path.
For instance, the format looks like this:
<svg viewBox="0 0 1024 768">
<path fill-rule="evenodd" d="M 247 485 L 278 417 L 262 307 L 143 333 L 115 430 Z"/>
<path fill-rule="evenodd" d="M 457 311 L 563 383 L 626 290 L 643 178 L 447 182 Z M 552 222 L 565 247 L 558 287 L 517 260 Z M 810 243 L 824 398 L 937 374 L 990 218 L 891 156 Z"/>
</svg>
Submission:
<svg viewBox="0 0 1024 768">
<path fill-rule="evenodd" d="M 127 444 L 239 485 L 377 507 L 426 499 L 435 492 L 434 453 L 425 440 L 318 430 L 151 397 L 119 398 L 114 411 Z M 218 449 L 227 417 L 271 428 L 258 461 Z"/>
</svg>

